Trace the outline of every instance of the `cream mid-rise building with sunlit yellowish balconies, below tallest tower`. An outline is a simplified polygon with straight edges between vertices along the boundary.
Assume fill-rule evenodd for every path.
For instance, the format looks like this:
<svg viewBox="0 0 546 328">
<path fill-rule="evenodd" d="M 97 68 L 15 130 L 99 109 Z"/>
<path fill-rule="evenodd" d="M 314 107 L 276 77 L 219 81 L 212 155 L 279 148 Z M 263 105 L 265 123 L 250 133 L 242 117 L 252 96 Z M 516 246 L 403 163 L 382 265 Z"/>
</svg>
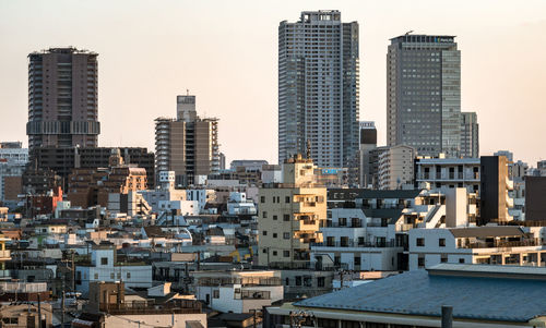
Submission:
<svg viewBox="0 0 546 328">
<path fill-rule="evenodd" d="M 310 245 L 322 242 L 319 228 L 327 219 L 327 189 L 314 183 L 311 159 L 286 159 L 283 183 L 259 191 L 258 263 L 281 268 L 306 267 Z"/>
</svg>

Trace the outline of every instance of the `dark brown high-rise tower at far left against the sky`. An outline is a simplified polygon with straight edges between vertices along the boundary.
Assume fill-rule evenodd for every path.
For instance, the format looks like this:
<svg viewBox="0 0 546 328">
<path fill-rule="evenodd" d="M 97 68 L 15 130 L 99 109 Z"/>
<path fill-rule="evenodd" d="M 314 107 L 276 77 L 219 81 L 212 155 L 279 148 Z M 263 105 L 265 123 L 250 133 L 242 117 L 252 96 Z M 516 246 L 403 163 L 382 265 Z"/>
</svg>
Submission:
<svg viewBox="0 0 546 328">
<path fill-rule="evenodd" d="M 97 53 L 51 48 L 28 54 L 28 148 L 96 147 Z"/>
</svg>

